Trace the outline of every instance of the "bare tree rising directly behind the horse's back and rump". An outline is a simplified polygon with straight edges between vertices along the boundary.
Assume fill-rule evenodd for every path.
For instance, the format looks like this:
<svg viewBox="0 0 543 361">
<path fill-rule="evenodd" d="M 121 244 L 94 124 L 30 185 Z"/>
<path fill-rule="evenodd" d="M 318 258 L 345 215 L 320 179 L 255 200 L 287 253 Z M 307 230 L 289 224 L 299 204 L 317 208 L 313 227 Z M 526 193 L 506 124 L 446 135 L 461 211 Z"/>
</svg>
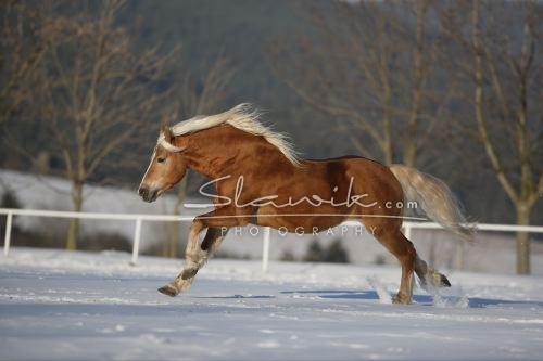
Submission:
<svg viewBox="0 0 543 361">
<path fill-rule="evenodd" d="M 428 81 L 435 63 L 430 8 L 425 0 L 311 4 L 303 12 L 314 39 L 298 49 L 280 39 L 269 64 L 314 108 L 358 129 L 348 137 L 363 155 L 413 166 L 446 104 Z"/>
</svg>

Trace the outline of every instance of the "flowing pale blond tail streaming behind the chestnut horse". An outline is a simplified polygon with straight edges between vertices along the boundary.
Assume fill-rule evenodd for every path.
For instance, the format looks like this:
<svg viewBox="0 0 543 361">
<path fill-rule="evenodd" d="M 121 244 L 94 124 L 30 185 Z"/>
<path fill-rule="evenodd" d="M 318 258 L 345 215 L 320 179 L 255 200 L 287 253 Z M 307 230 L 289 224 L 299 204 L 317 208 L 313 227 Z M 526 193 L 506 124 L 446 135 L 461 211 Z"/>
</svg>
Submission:
<svg viewBox="0 0 543 361">
<path fill-rule="evenodd" d="M 466 224 L 460 206 L 449 186 L 441 180 L 403 165 L 390 170 L 402 184 L 406 201 L 415 201 L 431 220 L 466 241 L 473 240 L 473 228 Z"/>
</svg>

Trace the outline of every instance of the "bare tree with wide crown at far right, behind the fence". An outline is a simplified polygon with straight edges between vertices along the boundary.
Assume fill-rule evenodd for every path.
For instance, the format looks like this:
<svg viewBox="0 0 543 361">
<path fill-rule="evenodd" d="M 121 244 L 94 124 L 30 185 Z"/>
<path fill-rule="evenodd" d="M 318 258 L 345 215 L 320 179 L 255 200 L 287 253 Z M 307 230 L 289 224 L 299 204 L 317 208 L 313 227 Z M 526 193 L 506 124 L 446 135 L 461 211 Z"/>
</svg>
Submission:
<svg viewBox="0 0 543 361">
<path fill-rule="evenodd" d="M 457 99 L 472 111 L 458 114 L 458 128 L 465 127 L 459 129 L 463 134 L 471 133 L 480 143 L 485 163 L 515 207 L 517 224 L 527 225 L 543 195 L 543 9 L 535 2 L 512 5 L 457 3 L 442 21 L 450 39 L 464 50 L 453 60 L 456 76 L 467 85 Z M 530 273 L 526 232 L 517 233 L 517 272 Z"/>
</svg>

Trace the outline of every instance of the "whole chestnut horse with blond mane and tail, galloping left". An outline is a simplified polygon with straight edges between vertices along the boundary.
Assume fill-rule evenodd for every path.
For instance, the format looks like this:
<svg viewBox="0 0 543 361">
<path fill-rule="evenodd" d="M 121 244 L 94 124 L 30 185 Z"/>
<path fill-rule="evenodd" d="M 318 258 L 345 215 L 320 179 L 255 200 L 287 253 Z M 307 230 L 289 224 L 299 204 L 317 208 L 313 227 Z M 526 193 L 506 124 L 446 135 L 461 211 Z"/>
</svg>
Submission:
<svg viewBox="0 0 543 361">
<path fill-rule="evenodd" d="M 163 127 L 139 195 L 146 202 L 155 201 L 182 179 L 187 168 L 217 180 L 215 208 L 194 218 L 185 267 L 159 289 L 169 296 L 190 287 L 220 245 L 224 230 L 231 227 L 315 232 L 358 220 L 402 265 L 400 291 L 393 298 L 399 304 L 412 300 L 414 271 L 422 286 L 451 284 L 417 256 L 402 234 L 403 209 L 396 205 L 404 198 L 416 201 L 428 218 L 464 238 L 471 237 L 443 182 L 413 168 L 358 156 L 300 159 L 285 136 L 262 125 L 249 104 Z M 200 243 L 203 229 L 207 232 Z"/>
</svg>

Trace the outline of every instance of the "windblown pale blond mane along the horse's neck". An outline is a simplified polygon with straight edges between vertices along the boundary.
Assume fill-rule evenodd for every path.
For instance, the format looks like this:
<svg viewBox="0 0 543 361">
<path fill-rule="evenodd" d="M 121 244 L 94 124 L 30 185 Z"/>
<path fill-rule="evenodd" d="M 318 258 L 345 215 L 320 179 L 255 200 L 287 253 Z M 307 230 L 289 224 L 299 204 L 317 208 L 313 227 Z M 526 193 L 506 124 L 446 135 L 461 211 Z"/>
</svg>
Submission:
<svg viewBox="0 0 543 361">
<path fill-rule="evenodd" d="M 172 127 L 174 136 L 188 134 L 194 131 L 209 129 L 223 124 L 247 131 L 264 139 L 275 145 L 295 166 L 300 159 L 288 136 L 276 132 L 258 121 L 260 113 L 249 103 L 242 103 L 229 111 L 216 115 L 199 115 L 188 120 L 179 121 Z"/>
</svg>

